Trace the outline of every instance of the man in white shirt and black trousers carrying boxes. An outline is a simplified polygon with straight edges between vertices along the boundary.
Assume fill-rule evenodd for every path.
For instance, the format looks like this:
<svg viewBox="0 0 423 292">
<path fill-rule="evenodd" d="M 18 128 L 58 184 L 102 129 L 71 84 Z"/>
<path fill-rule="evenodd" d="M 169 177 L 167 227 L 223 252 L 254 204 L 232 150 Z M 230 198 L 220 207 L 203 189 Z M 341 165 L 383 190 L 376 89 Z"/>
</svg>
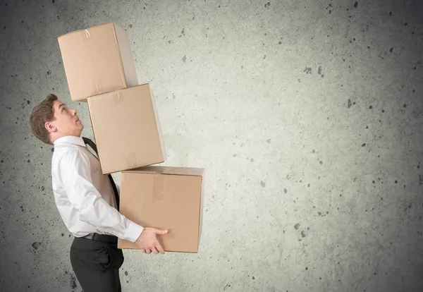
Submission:
<svg viewBox="0 0 423 292">
<path fill-rule="evenodd" d="M 142 253 L 162 253 L 157 235 L 167 230 L 144 228 L 118 212 L 112 180 L 102 174 L 95 157 L 80 138 L 82 125 L 76 111 L 56 95 L 48 95 L 30 116 L 32 133 L 54 145 L 51 178 L 57 209 L 75 236 L 71 264 L 84 292 L 121 291 L 123 264 L 118 238 L 135 242 Z"/>
</svg>

